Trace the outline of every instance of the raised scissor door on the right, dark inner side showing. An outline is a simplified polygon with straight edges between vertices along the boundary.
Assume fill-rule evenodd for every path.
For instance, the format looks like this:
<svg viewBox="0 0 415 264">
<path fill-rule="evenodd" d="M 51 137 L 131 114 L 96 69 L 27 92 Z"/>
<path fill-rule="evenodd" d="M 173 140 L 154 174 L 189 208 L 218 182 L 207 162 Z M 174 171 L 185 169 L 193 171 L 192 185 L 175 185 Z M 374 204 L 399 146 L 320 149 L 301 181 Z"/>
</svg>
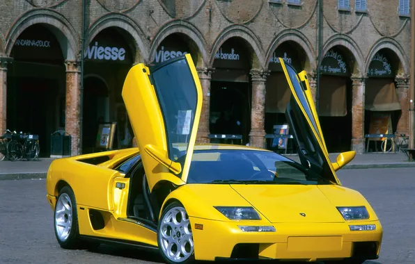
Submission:
<svg viewBox="0 0 415 264">
<path fill-rule="evenodd" d="M 282 58 L 279 60 L 292 93 L 285 115 L 297 142 L 301 163 L 324 179 L 340 183 L 324 142 L 306 72 L 297 74 L 291 65 L 286 64 Z"/>
</svg>

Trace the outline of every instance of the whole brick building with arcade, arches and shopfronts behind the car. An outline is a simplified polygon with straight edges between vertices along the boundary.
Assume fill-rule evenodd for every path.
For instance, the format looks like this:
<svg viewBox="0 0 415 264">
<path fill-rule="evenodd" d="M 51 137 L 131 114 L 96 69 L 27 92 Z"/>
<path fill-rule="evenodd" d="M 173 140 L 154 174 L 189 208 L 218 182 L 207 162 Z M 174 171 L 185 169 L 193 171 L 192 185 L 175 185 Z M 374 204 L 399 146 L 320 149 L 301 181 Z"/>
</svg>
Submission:
<svg viewBox="0 0 415 264">
<path fill-rule="evenodd" d="M 98 120 L 116 121 L 129 145 L 128 69 L 191 53 L 204 94 L 201 142 L 233 133 L 264 147 L 286 121 L 277 57 L 308 72 L 329 151 L 363 151 L 376 113 L 408 134 L 409 0 L 321 2 L 322 13 L 317 0 L 2 1 L 0 130 L 38 133 L 49 155 L 49 135 L 64 129 L 75 155 L 95 145 Z"/>
</svg>

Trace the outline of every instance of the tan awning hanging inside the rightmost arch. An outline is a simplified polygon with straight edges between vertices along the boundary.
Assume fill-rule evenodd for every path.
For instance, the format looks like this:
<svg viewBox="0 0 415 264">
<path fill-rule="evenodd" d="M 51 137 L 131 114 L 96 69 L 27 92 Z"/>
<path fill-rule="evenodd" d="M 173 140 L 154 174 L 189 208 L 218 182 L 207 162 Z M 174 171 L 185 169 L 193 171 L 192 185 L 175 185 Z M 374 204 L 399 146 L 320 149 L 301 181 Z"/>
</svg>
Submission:
<svg viewBox="0 0 415 264">
<path fill-rule="evenodd" d="M 367 79 L 365 109 L 370 111 L 401 110 L 393 79 Z"/>
</svg>

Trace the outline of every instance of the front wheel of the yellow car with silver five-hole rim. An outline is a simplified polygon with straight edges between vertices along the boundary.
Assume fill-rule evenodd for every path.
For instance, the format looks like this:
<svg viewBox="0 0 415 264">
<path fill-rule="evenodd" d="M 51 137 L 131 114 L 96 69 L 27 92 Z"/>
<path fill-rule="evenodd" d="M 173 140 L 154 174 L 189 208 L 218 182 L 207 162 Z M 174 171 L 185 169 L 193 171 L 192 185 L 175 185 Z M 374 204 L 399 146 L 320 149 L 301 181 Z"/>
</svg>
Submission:
<svg viewBox="0 0 415 264">
<path fill-rule="evenodd" d="M 164 261 L 169 264 L 194 261 L 194 242 L 185 207 L 173 202 L 164 208 L 157 229 L 157 242 Z"/>
</svg>

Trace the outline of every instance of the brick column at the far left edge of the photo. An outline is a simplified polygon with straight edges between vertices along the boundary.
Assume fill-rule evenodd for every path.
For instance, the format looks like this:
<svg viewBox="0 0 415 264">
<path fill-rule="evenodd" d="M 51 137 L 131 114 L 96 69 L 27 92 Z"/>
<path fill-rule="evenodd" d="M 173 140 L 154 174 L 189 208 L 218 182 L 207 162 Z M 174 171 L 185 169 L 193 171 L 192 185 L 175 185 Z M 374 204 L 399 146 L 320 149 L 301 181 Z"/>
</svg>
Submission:
<svg viewBox="0 0 415 264">
<path fill-rule="evenodd" d="M 7 65 L 12 58 L 0 58 L 0 135 L 7 129 Z"/>
</svg>

